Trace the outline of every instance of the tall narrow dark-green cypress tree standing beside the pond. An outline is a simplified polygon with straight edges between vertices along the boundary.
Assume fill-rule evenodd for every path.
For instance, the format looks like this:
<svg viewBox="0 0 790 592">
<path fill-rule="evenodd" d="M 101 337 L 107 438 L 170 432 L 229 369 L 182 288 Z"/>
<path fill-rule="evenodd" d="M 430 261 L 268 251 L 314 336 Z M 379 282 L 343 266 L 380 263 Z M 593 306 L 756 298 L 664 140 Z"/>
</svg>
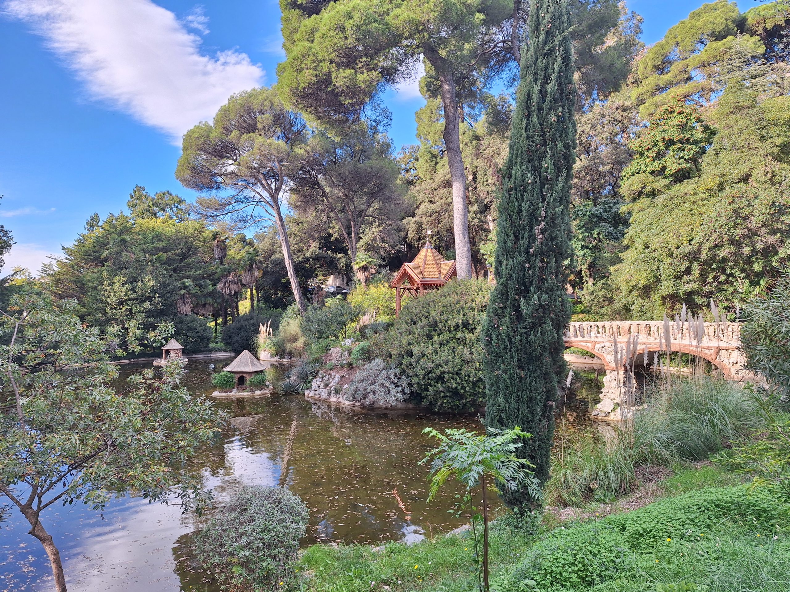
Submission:
<svg viewBox="0 0 790 592">
<path fill-rule="evenodd" d="M 574 69 L 567 0 L 535 0 L 521 63 L 510 152 L 502 170 L 497 245 L 485 324 L 486 425 L 518 425 L 532 438 L 520 455 L 549 474 L 562 332 L 570 320 L 566 265 L 576 146 Z M 511 507 L 532 506 L 506 492 Z"/>
</svg>

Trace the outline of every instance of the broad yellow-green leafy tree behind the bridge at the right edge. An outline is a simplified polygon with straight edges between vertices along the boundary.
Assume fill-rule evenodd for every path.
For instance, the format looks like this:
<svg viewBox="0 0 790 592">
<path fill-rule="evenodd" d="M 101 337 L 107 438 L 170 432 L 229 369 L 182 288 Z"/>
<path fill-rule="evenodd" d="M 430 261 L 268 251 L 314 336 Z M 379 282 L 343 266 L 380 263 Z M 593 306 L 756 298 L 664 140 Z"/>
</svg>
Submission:
<svg viewBox="0 0 790 592">
<path fill-rule="evenodd" d="M 660 318 L 683 303 L 746 302 L 788 263 L 790 103 L 732 84 L 710 121 L 717 135 L 701 174 L 630 208 L 613 311 Z"/>
</svg>

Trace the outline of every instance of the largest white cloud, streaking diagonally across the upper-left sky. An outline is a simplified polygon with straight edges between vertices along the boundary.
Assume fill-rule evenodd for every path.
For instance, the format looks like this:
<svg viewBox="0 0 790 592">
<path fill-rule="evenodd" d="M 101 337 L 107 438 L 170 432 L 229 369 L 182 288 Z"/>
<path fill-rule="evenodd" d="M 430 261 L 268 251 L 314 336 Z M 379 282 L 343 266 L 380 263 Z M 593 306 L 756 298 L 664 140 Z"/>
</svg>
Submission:
<svg viewBox="0 0 790 592">
<path fill-rule="evenodd" d="M 32 24 L 94 98 L 177 144 L 228 96 L 263 84 L 264 71 L 246 54 L 201 55 L 200 37 L 151 0 L 7 0 L 4 8 Z"/>
</svg>

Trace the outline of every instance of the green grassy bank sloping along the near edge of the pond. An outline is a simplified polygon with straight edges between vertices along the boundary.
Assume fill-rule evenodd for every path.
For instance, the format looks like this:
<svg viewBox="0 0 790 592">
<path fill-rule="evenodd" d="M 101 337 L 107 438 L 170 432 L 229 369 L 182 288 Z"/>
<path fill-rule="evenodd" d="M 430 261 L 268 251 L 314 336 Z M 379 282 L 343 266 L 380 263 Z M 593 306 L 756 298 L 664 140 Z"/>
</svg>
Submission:
<svg viewBox="0 0 790 592">
<path fill-rule="evenodd" d="M 771 489 L 692 489 L 732 478 L 711 466 L 682 470 L 661 484 L 664 497 L 644 508 L 596 516 L 592 504 L 591 518 L 557 523 L 547 516 L 536 534 L 500 521 L 491 538 L 494 589 L 784 592 L 790 505 Z M 460 534 L 377 550 L 314 545 L 299 569 L 303 590 L 315 592 L 468 592 L 476 583 L 472 566 L 470 539 Z"/>
</svg>

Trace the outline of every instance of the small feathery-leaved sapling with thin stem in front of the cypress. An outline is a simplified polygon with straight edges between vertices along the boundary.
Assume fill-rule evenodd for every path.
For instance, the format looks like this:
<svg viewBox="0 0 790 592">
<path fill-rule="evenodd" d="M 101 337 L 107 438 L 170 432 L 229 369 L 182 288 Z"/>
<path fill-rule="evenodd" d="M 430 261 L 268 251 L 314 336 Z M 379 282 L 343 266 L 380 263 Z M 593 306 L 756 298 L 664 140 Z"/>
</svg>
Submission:
<svg viewBox="0 0 790 592">
<path fill-rule="evenodd" d="M 431 461 L 433 479 L 428 501 L 434 499 L 448 478 L 456 478 L 465 486 L 466 496 L 462 504 L 472 513 L 478 584 L 480 590 L 488 592 L 488 491 L 498 485 L 500 490 L 525 490 L 535 500 L 540 499 L 540 483 L 530 470 L 532 465 L 528 460 L 517 456 L 521 443 L 531 437 L 531 434 L 522 432 L 519 427 L 508 430 L 487 429 L 487 433 L 480 436 L 465 429 L 446 429 L 442 434 L 433 428 L 426 428 L 423 433 L 439 443 L 438 448 L 428 452 L 421 461 L 421 464 Z M 482 516 L 478 515 L 472 503 L 472 489 L 478 486 L 483 493 Z M 480 518 L 483 522 L 482 545 L 476 530 L 476 523 Z"/>
</svg>

